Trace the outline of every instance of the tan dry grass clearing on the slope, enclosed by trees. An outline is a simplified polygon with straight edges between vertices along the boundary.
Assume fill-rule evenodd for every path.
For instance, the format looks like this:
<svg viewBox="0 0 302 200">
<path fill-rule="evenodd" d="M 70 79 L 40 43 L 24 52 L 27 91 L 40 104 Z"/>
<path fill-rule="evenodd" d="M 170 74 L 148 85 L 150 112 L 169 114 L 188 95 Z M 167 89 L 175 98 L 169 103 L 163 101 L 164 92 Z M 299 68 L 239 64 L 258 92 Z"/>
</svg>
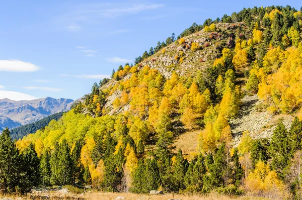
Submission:
<svg viewBox="0 0 302 200">
<path fill-rule="evenodd" d="M 175 146 L 174 153 L 177 153 L 178 149 L 181 148 L 184 157 L 191 160 L 194 157 L 194 152 L 196 152 L 197 137 L 200 131 L 188 131 L 179 136 L 173 144 Z"/>
</svg>

